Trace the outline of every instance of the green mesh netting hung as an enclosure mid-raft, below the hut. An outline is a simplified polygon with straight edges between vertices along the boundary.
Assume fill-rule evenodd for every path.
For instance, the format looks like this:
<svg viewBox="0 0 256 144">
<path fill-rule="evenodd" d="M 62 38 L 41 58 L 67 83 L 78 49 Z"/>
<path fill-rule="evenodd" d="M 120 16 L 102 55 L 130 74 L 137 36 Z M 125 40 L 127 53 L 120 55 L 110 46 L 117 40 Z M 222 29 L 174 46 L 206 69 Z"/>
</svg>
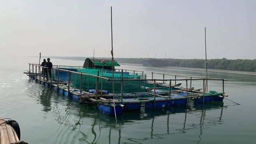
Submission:
<svg viewBox="0 0 256 144">
<path fill-rule="evenodd" d="M 108 79 L 112 79 L 112 72 L 107 70 L 97 70 L 97 69 L 77 69 L 77 72 L 92 74 L 97 76 L 98 71 L 100 72 L 100 77 L 106 77 Z M 146 74 L 137 74 L 132 75 L 128 72 L 123 73 L 123 79 L 142 79 L 146 78 Z M 121 72 L 114 73 L 114 79 L 121 79 Z M 82 76 L 82 89 L 83 91 L 88 91 L 90 89 L 96 89 L 97 77 L 93 76 Z M 70 86 L 73 88 L 80 89 L 81 84 L 81 74 L 70 74 Z M 144 86 L 145 81 L 123 81 L 123 93 L 133 93 L 133 92 L 144 92 L 146 91 Z M 107 79 L 99 79 L 98 90 L 107 90 L 108 93 L 113 93 L 113 82 L 108 81 Z M 114 90 L 115 93 L 121 93 L 121 81 L 114 81 Z"/>
</svg>

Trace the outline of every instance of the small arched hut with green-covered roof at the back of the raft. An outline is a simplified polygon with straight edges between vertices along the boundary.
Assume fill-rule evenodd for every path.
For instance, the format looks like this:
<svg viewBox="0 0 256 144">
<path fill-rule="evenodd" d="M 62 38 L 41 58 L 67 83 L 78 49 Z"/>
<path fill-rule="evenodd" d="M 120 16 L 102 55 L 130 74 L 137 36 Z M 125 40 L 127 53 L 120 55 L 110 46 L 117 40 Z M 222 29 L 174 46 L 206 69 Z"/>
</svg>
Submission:
<svg viewBox="0 0 256 144">
<path fill-rule="evenodd" d="M 103 65 L 101 63 L 102 60 L 105 60 L 105 64 L 104 64 L 104 69 L 107 69 L 107 70 L 112 70 L 112 60 L 111 59 L 91 59 L 91 58 L 86 58 L 85 61 L 84 61 L 84 66 L 83 68 L 88 68 L 88 67 L 91 67 L 91 68 L 102 68 Z M 115 69 L 115 66 L 120 66 L 116 60 L 114 60 L 114 69 Z"/>
</svg>

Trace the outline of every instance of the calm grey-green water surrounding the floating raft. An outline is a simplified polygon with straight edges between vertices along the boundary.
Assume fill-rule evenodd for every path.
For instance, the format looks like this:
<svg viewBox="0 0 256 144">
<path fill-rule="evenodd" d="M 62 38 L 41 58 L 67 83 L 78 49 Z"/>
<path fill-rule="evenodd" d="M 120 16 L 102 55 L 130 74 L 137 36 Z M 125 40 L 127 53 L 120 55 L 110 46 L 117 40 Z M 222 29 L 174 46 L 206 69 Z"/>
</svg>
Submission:
<svg viewBox="0 0 256 144">
<path fill-rule="evenodd" d="M 38 63 L 37 58 L 0 60 L 0 117 L 18 121 L 21 139 L 29 144 L 255 144 L 256 141 L 256 76 L 209 72 L 209 77 L 228 79 L 225 82 L 228 99 L 241 105 L 223 100 L 223 103 L 191 102 L 189 107 L 157 110 L 142 107 L 140 111 L 118 116 L 117 129 L 115 118 L 102 114 L 95 105 L 79 104 L 23 74 L 28 63 Z M 83 65 L 83 61 L 51 61 L 55 65 Z M 120 68 L 143 70 L 148 78 L 152 71 L 205 75 L 193 70 L 133 65 Z M 199 81 L 193 81 L 192 85 L 202 88 Z M 221 81 L 209 81 L 208 87 L 222 91 Z"/>
</svg>

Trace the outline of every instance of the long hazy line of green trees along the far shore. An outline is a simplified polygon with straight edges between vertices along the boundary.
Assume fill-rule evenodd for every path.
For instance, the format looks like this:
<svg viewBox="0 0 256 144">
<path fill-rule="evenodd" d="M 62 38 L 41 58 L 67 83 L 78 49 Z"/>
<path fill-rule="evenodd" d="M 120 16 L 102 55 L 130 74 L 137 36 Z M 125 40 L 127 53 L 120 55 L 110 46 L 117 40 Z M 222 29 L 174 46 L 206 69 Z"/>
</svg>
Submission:
<svg viewBox="0 0 256 144">
<path fill-rule="evenodd" d="M 51 56 L 51 58 L 60 58 L 60 59 L 70 59 L 70 60 L 85 60 L 85 57 L 58 57 Z M 111 58 L 102 58 L 102 59 L 111 59 Z M 115 58 L 118 63 L 131 63 L 131 64 L 142 64 L 143 60 L 146 58 Z M 193 68 L 205 68 L 205 60 L 203 59 L 168 59 L 171 61 L 178 61 L 179 64 L 170 63 L 170 66 L 178 67 L 193 67 Z M 207 60 L 209 69 L 218 69 L 218 70 L 238 70 L 238 71 L 248 71 L 256 72 L 256 59 L 254 60 L 228 60 L 226 58 L 222 59 L 210 59 Z"/>
</svg>

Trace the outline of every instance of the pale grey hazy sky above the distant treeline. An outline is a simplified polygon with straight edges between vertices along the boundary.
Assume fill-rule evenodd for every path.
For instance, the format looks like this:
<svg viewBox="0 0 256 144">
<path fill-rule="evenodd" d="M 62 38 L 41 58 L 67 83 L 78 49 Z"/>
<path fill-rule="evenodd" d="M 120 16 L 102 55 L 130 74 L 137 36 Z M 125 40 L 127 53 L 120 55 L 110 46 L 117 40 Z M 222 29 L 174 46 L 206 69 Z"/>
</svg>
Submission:
<svg viewBox="0 0 256 144">
<path fill-rule="evenodd" d="M 256 58 L 256 0 L 0 0 L 0 56 Z"/>
</svg>

